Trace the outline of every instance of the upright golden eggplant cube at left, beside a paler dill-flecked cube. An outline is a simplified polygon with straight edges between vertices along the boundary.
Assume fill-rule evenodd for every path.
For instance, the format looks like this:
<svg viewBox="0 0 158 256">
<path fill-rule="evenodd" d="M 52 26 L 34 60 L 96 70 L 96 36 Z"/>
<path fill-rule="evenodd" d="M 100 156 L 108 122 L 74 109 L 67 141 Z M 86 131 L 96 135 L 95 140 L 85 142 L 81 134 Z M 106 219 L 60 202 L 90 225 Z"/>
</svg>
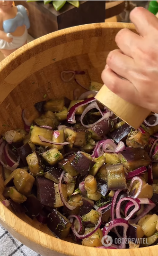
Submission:
<svg viewBox="0 0 158 256">
<path fill-rule="evenodd" d="M 44 175 L 44 170 L 39 163 L 40 159 L 38 158 L 35 151 L 26 157 L 26 161 L 27 161 L 28 167 L 30 169 L 30 172 L 33 176 L 43 176 Z"/>
</svg>

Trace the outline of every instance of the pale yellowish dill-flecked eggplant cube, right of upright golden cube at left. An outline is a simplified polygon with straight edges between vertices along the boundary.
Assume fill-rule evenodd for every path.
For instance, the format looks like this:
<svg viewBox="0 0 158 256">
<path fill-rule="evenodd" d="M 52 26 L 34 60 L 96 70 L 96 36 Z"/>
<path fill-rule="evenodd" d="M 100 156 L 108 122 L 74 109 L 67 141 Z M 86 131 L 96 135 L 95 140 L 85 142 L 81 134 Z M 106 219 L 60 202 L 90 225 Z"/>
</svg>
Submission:
<svg viewBox="0 0 158 256">
<path fill-rule="evenodd" d="M 61 159 L 63 159 L 61 152 L 59 152 L 57 148 L 51 148 L 45 151 L 44 153 L 42 153 L 42 157 L 49 165 L 55 165 Z"/>
</svg>

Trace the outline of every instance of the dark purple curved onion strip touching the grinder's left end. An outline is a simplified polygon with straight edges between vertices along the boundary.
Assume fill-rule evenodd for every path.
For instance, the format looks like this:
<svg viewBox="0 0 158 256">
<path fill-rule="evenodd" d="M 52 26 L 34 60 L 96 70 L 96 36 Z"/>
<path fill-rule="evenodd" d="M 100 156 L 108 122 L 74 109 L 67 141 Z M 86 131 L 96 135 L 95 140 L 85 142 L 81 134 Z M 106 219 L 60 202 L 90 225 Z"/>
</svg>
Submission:
<svg viewBox="0 0 158 256">
<path fill-rule="evenodd" d="M 68 112 L 68 115 L 67 115 L 67 122 L 70 123 L 70 124 L 76 124 L 76 120 L 75 120 L 75 113 L 76 113 L 76 110 L 79 108 L 79 107 L 82 107 L 82 106 L 85 106 L 87 105 L 88 103 L 91 103 L 93 101 L 96 101 L 97 99 L 92 97 L 92 98 L 88 98 L 82 102 L 79 102 L 77 104 L 75 104 L 74 106 L 72 106 Z"/>
</svg>

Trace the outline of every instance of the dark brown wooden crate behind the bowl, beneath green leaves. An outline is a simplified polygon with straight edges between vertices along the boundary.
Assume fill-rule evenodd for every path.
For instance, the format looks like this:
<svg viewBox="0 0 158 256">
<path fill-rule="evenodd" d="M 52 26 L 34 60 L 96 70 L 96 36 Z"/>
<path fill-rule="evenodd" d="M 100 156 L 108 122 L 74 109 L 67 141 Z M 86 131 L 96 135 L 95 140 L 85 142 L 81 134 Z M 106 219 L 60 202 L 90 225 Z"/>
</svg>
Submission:
<svg viewBox="0 0 158 256">
<path fill-rule="evenodd" d="M 56 11 L 52 3 L 44 5 L 43 1 L 15 1 L 15 5 L 22 4 L 28 9 L 31 23 L 28 32 L 34 38 L 56 30 L 105 21 L 105 1 L 90 0 L 79 3 L 79 8 L 76 8 L 66 2 L 60 11 Z"/>
</svg>

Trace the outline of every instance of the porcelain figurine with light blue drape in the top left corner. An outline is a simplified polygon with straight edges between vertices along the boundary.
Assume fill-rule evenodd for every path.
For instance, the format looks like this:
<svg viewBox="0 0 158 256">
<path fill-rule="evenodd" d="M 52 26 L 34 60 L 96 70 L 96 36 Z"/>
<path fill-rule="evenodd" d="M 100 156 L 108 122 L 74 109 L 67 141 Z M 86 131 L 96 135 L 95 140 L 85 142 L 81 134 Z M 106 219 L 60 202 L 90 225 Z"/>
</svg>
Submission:
<svg viewBox="0 0 158 256">
<path fill-rule="evenodd" d="M 0 51 L 4 57 L 26 44 L 29 27 L 28 11 L 23 5 L 0 1 Z"/>
</svg>

